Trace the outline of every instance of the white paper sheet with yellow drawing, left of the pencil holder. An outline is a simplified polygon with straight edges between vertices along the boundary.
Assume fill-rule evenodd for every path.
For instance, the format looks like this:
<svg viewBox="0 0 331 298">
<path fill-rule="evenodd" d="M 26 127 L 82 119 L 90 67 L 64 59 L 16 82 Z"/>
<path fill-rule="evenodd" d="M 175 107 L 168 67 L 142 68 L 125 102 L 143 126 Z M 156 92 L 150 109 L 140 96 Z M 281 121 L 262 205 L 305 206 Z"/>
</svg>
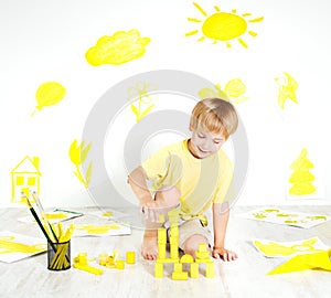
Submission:
<svg viewBox="0 0 331 298">
<path fill-rule="evenodd" d="M 12 263 L 45 252 L 44 240 L 24 236 L 10 231 L 0 232 L 0 260 Z"/>
</svg>

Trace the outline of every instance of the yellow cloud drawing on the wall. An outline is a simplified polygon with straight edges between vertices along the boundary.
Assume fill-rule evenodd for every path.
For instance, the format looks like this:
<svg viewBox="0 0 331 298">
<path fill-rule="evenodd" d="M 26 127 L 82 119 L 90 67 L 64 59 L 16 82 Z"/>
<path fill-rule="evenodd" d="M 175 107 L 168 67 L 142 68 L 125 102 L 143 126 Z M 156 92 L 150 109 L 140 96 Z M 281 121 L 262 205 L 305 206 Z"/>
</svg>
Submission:
<svg viewBox="0 0 331 298">
<path fill-rule="evenodd" d="M 86 52 L 85 57 L 93 66 L 119 65 L 141 57 L 149 42 L 150 39 L 141 38 L 137 29 L 118 31 L 113 36 L 102 36 L 96 45 Z"/>
</svg>

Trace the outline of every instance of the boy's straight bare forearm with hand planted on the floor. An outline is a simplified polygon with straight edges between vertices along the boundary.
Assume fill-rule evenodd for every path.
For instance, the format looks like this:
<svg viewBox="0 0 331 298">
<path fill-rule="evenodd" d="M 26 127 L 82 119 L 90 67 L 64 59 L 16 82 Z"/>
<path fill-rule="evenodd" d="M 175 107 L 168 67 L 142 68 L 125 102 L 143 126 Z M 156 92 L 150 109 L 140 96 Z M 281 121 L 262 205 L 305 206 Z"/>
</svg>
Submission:
<svg viewBox="0 0 331 298">
<path fill-rule="evenodd" d="M 214 225 L 213 257 L 215 258 L 221 257 L 224 260 L 234 260 L 237 258 L 237 254 L 227 251 L 224 247 L 228 216 L 229 216 L 228 203 L 213 204 L 213 225 Z"/>
</svg>

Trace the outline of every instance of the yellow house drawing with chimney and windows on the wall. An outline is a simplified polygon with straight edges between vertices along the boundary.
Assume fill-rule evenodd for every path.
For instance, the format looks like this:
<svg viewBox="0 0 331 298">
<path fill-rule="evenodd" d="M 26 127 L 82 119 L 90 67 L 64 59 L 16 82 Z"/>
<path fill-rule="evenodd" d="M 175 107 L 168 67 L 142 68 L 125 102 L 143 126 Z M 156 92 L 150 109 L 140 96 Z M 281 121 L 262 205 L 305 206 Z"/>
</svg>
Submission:
<svg viewBox="0 0 331 298">
<path fill-rule="evenodd" d="M 39 169 L 39 157 L 24 157 L 10 172 L 11 174 L 11 202 L 25 204 L 25 200 L 21 196 L 24 192 L 30 198 L 30 192 L 40 192 L 41 172 Z M 34 202 L 33 198 L 30 198 Z"/>
</svg>

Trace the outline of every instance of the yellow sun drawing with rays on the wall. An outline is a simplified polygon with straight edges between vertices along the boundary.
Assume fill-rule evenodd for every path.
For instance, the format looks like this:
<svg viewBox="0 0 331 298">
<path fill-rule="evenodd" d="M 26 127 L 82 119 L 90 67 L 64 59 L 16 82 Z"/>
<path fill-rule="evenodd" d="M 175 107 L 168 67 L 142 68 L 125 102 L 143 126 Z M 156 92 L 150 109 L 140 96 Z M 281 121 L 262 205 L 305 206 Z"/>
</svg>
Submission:
<svg viewBox="0 0 331 298">
<path fill-rule="evenodd" d="M 248 29 L 249 23 L 257 23 L 264 20 L 260 18 L 250 18 L 252 13 L 237 14 L 237 10 L 233 9 L 231 12 L 223 12 L 218 7 L 214 7 L 215 13 L 207 14 L 197 3 L 193 2 L 194 7 L 203 14 L 204 20 L 188 18 L 190 22 L 202 23 L 201 31 L 202 36 L 199 38 L 199 42 L 209 38 L 216 44 L 218 41 L 225 42 L 227 47 L 231 47 L 231 41 L 236 39 L 239 44 L 245 49 L 248 47 L 246 42 L 243 40 L 243 35 L 247 32 L 250 36 L 255 38 L 256 32 Z M 250 19 L 248 19 L 250 18 Z M 185 36 L 195 35 L 199 30 L 190 31 Z"/>
</svg>

